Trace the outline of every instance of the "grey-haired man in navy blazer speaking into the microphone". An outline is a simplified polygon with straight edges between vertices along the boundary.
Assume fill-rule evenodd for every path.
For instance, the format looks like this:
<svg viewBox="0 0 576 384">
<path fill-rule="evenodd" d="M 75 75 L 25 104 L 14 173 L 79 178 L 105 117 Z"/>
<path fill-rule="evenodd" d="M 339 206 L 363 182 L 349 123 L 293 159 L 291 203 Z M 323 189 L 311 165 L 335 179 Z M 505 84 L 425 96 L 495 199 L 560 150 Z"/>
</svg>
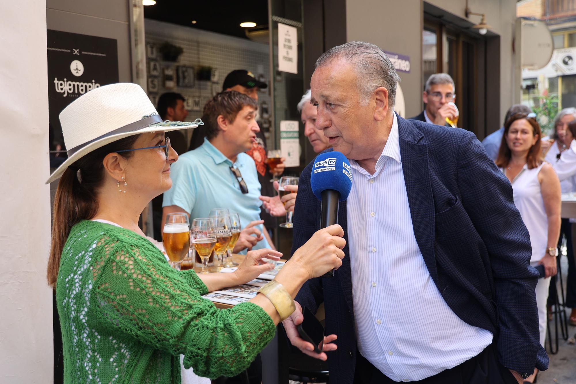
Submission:
<svg viewBox="0 0 576 384">
<path fill-rule="evenodd" d="M 521 383 L 548 356 L 539 273 L 510 182 L 472 133 L 397 115 L 399 80 L 384 51 L 365 42 L 316 62 L 316 128 L 353 178 L 338 215 L 346 257 L 334 277 L 305 283 L 286 333 L 328 359 L 331 384 Z M 293 251 L 320 227 L 313 165 L 300 176 Z M 327 336 L 315 353 L 296 326 L 302 306 L 314 313 L 321 303 Z"/>
</svg>

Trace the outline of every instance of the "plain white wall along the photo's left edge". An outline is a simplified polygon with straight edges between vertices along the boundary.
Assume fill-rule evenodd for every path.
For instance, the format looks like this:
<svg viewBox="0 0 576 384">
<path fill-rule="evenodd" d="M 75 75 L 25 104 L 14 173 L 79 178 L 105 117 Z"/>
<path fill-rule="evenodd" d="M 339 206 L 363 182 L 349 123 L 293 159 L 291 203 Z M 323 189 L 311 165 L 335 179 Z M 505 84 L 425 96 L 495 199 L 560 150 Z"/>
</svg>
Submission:
<svg viewBox="0 0 576 384">
<path fill-rule="evenodd" d="M 46 3 L 19 0 L 0 21 L 0 383 L 51 383 Z"/>
</svg>

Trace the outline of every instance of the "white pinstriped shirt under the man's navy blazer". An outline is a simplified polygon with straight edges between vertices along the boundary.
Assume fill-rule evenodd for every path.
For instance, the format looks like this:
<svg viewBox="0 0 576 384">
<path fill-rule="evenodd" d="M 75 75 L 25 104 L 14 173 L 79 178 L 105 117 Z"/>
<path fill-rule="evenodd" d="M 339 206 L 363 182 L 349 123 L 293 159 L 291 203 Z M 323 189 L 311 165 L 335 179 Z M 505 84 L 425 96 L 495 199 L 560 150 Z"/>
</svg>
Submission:
<svg viewBox="0 0 576 384">
<path fill-rule="evenodd" d="M 370 175 L 354 160 L 347 199 L 358 350 L 394 381 L 416 381 L 478 355 L 488 330 L 448 307 L 416 243 L 404 184 L 396 115 Z"/>
</svg>

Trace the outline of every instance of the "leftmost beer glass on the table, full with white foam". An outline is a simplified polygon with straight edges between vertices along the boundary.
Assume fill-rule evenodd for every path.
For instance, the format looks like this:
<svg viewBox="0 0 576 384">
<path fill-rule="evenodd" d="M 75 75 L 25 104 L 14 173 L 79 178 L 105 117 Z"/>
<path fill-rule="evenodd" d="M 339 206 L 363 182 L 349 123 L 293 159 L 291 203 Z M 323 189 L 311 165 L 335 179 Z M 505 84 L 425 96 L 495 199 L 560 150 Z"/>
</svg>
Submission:
<svg viewBox="0 0 576 384">
<path fill-rule="evenodd" d="M 166 215 L 162 244 L 172 268 L 180 270 L 180 263 L 190 249 L 190 221 L 187 213 L 173 212 Z"/>
</svg>

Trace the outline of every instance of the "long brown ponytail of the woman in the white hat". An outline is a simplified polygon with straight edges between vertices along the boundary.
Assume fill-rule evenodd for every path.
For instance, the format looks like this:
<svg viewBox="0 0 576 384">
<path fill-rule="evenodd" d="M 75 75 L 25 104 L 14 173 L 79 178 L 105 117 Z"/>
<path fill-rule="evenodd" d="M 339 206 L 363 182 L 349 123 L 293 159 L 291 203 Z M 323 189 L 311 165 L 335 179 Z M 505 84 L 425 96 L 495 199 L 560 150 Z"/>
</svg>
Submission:
<svg viewBox="0 0 576 384">
<path fill-rule="evenodd" d="M 52 242 L 46 277 L 48 284 L 56 288 L 62 250 L 70 229 L 79 221 L 91 219 L 98 211 L 96 191 L 104 181 L 103 160 L 108 153 L 131 149 L 139 135 L 132 135 L 111 142 L 82 156 L 64 171 L 54 197 L 54 219 L 52 219 Z M 128 159 L 134 152 L 122 152 Z"/>
</svg>

